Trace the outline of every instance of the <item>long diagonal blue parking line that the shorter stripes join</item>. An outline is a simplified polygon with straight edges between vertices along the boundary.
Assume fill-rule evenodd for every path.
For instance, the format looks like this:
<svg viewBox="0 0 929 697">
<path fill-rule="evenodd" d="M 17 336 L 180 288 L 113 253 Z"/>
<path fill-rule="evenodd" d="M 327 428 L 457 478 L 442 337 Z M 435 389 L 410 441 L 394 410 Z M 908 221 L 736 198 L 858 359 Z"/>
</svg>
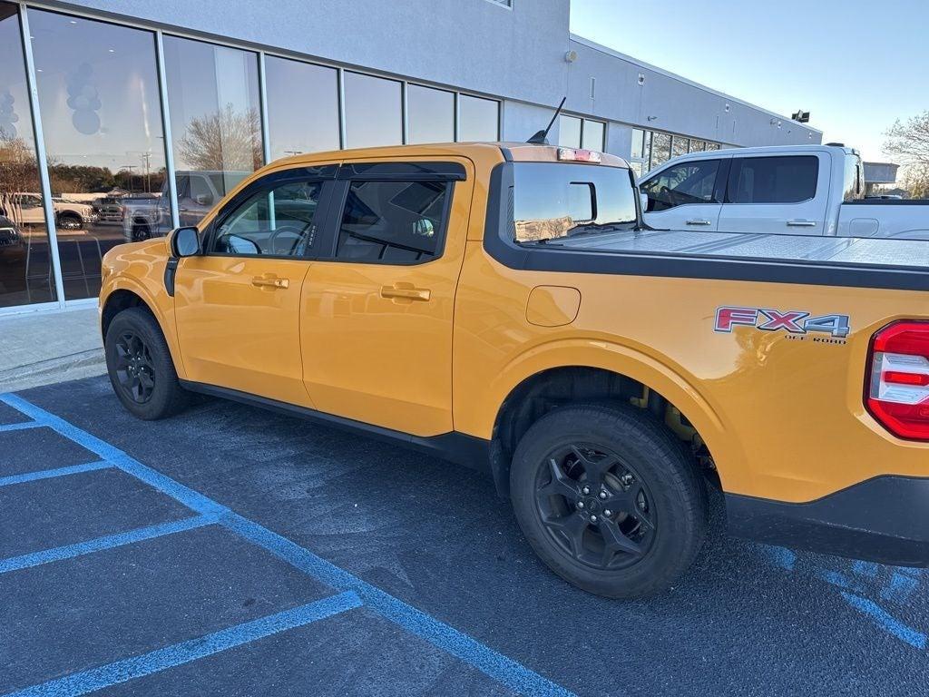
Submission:
<svg viewBox="0 0 929 697">
<path fill-rule="evenodd" d="M 473 665 L 485 675 L 492 677 L 511 690 L 515 690 L 521 694 L 541 695 L 544 697 L 573 697 L 573 692 L 535 673 L 513 659 L 504 656 L 504 654 L 493 651 L 490 647 L 482 644 L 477 639 L 468 637 L 466 634 L 450 625 L 446 625 L 425 612 L 417 610 L 412 607 L 412 605 L 398 598 L 394 598 L 380 588 L 362 581 L 357 576 L 316 556 L 287 538 L 277 533 L 272 533 L 258 523 L 242 518 L 242 516 L 229 510 L 228 507 L 217 504 L 202 493 L 195 492 L 162 473 L 142 465 L 110 443 L 101 441 L 96 436 L 87 433 L 79 427 L 73 426 L 59 416 L 50 414 L 17 395 L 0 394 L 0 401 L 4 401 L 21 413 L 31 416 L 37 422 L 41 422 L 53 428 L 61 435 L 83 446 L 86 450 L 98 454 L 98 456 L 105 460 L 109 460 L 116 467 L 145 481 L 153 488 L 176 498 L 185 506 L 200 511 L 203 513 L 200 519 L 210 519 L 211 522 L 221 523 L 229 528 L 229 530 L 239 533 L 242 537 L 257 546 L 264 547 L 278 558 L 288 562 L 296 569 L 306 572 L 322 583 L 330 585 L 337 590 L 357 593 L 366 605 L 370 606 L 386 619 L 403 627 L 415 636 L 424 638 L 438 649 L 447 651 L 465 663 Z M 170 523 L 168 523 L 168 525 L 170 525 Z M 153 527 L 159 528 L 162 526 Z M 136 533 L 138 532 L 139 531 Z M 124 535 L 128 534 L 133 533 L 124 533 Z M 114 535 L 114 537 L 119 537 L 119 535 Z M 145 538 L 143 537 L 141 539 Z M 128 542 L 134 541 L 135 540 L 128 540 L 120 544 L 128 544 Z M 96 541 L 91 541 L 89 544 L 94 542 Z M 87 544 L 88 543 L 84 543 L 84 545 Z M 61 549 L 66 548 L 62 547 Z M 86 551 L 95 550 L 87 549 Z M 40 552 L 38 554 L 44 553 Z M 78 554 L 85 554 L 85 551 L 79 551 Z M 27 555 L 27 557 L 29 556 L 30 555 Z M 4 563 L 5 562 L 0 562 L 0 572 L 4 571 Z M 44 562 L 40 561 L 39 563 Z M 56 692 L 55 694 L 58 693 Z"/>
</svg>

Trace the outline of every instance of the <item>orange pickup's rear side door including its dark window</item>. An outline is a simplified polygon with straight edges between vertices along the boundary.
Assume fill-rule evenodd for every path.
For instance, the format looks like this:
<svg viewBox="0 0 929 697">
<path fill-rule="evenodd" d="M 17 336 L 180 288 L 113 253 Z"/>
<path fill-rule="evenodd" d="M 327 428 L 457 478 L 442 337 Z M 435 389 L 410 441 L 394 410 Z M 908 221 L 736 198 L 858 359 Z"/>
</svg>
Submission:
<svg viewBox="0 0 929 697">
<path fill-rule="evenodd" d="M 451 430 L 451 325 L 474 168 L 343 164 L 301 305 L 314 406 L 417 436 Z"/>
</svg>

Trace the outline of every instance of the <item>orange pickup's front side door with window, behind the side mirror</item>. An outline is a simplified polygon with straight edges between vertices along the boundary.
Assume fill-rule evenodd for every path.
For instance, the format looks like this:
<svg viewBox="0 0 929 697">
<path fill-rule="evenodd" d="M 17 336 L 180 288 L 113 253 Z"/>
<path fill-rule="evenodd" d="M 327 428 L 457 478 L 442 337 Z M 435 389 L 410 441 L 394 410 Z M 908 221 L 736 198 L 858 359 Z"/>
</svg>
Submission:
<svg viewBox="0 0 929 697">
<path fill-rule="evenodd" d="M 332 183 L 323 169 L 257 179 L 206 224 L 203 254 L 180 259 L 175 318 L 191 381 L 311 406 L 300 293 Z M 336 166 L 329 169 L 334 176 Z"/>
</svg>

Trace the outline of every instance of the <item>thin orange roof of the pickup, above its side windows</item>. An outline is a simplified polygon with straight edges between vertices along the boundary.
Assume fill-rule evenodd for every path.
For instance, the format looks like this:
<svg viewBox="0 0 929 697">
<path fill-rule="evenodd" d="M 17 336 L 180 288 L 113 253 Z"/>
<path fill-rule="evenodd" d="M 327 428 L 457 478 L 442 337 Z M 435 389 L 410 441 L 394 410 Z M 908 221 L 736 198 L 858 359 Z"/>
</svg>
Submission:
<svg viewBox="0 0 929 697">
<path fill-rule="evenodd" d="M 425 145 L 386 145 L 376 148 L 353 148 L 347 150 L 307 152 L 275 160 L 273 164 L 320 164 L 347 159 L 416 157 L 435 155 L 459 155 L 472 160 L 482 159 L 489 154 L 497 159 L 513 162 L 558 162 L 558 151 L 554 145 L 533 145 L 507 141 L 477 141 L 468 143 L 429 143 Z M 580 150 L 568 148 L 567 150 Z M 600 166 L 629 168 L 629 164 L 616 155 L 600 153 Z"/>
</svg>

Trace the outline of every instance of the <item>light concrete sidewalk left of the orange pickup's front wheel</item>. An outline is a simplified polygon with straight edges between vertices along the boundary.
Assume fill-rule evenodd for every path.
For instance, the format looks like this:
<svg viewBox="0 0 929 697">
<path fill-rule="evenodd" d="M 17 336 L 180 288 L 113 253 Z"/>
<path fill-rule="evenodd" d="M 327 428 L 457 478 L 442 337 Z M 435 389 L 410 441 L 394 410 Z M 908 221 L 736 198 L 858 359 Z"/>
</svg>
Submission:
<svg viewBox="0 0 929 697">
<path fill-rule="evenodd" d="M 0 318 L 0 392 L 107 372 L 97 309 Z"/>
</svg>

